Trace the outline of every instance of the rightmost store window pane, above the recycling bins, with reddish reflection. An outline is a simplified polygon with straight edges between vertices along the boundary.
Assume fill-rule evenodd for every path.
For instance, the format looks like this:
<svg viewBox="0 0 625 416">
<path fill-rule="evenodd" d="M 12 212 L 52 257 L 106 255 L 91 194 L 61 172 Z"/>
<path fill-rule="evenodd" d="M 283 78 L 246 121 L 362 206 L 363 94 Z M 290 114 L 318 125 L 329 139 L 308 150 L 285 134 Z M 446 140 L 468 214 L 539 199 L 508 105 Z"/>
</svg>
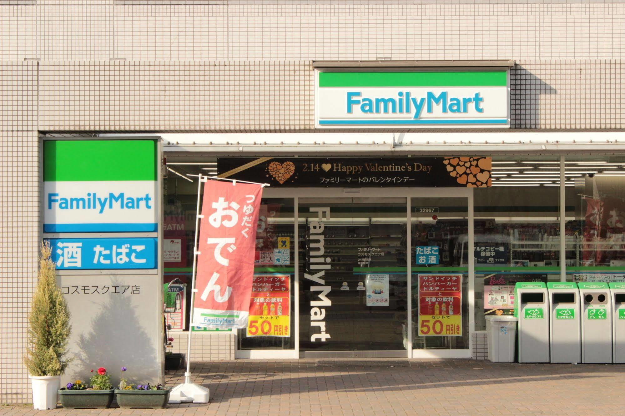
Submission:
<svg viewBox="0 0 625 416">
<path fill-rule="evenodd" d="M 567 157 L 566 277 L 625 281 L 625 158 Z"/>
</svg>

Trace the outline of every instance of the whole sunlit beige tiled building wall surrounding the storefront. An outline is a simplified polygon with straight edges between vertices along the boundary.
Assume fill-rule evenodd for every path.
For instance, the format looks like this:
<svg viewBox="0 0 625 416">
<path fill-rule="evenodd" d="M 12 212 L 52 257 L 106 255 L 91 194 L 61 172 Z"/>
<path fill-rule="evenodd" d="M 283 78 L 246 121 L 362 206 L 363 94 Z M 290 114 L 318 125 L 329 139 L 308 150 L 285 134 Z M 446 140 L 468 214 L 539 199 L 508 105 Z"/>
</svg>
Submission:
<svg viewBox="0 0 625 416">
<path fill-rule="evenodd" d="M 37 131 L 310 131 L 322 59 L 514 59 L 512 127 L 624 127 L 621 1 L 0 0 L 0 32 L 0 402 L 29 401 Z"/>
</svg>

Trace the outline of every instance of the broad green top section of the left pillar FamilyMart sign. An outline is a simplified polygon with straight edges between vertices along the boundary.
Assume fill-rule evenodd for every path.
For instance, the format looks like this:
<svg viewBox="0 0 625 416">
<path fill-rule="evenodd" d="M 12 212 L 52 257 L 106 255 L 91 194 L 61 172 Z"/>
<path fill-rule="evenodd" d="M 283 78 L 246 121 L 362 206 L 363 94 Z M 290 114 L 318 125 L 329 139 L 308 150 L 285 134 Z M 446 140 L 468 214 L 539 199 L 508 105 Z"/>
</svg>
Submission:
<svg viewBox="0 0 625 416">
<path fill-rule="evenodd" d="M 154 140 L 43 142 L 44 181 L 156 181 Z"/>
</svg>

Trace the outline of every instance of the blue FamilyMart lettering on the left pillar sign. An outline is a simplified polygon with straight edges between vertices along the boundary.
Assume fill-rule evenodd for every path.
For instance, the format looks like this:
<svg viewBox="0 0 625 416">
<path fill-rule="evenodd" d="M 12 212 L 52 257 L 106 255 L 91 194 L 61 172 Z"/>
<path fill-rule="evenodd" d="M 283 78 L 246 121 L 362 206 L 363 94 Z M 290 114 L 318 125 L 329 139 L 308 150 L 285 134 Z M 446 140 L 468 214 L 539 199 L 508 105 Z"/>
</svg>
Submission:
<svg viewBox="0 0 625 416">
<path fill-rule="evenodd" d="M 61 197 L 50 193 L 47 196 L 47 209 L 95 209 L 103 214 L 106 209 L 152 209 L 153 198 L 145 196 L 126 196 L 125 192 L 109 192 L 108 196 L 99 197 L 96 192 L 88 192 L 85 197 Z"/>
</svg>

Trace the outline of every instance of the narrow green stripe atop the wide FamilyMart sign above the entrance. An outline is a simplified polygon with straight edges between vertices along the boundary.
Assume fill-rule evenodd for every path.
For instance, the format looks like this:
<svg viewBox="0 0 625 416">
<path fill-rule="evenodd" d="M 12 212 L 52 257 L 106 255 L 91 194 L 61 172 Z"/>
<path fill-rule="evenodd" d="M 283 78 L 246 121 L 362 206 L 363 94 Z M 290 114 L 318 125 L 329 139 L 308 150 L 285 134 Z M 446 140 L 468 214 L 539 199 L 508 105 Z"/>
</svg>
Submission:
<svg viewBox="0 0 625 416">
<path fill-rule="evenodd" d="M 505 87 L 506 71 L 319 72 L 319 87 Z"/>
</svg>

